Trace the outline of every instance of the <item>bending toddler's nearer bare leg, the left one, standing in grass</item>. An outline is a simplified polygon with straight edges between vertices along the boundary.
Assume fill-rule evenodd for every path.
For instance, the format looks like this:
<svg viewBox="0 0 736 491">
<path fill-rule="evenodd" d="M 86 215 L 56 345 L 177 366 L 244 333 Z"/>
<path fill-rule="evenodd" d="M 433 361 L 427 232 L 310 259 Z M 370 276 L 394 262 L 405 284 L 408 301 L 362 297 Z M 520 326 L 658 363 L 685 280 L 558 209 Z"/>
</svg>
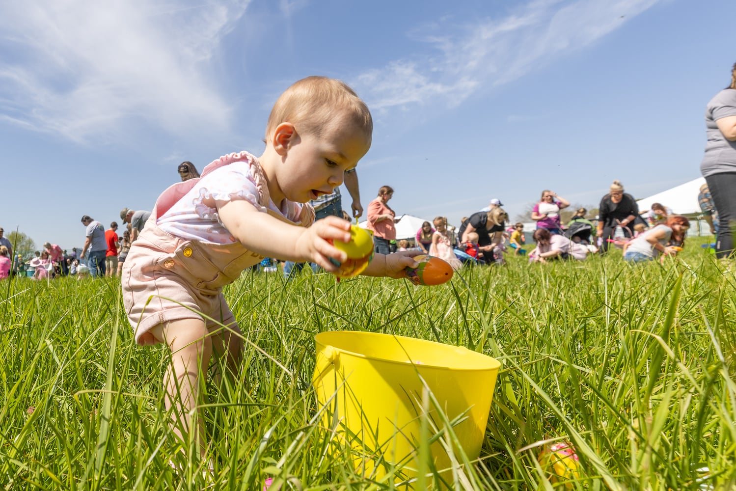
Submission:
<svg viewBox="0 0 736 491">
<path fill-rule="evenodd" d="M 180 319 L 157 325 L 152 334 L 169 345 L 171 364 L 166 370 L 163 387 L 166 390 L 166 409 L 171 409 L 171 429 L 186 444 L 192 427 L 197 431 L 194 441 L 203 456 L 205 425 L 197 407 L 202 384 L 212 357 L 212 339 L 201 319 Z"/>
</svg>

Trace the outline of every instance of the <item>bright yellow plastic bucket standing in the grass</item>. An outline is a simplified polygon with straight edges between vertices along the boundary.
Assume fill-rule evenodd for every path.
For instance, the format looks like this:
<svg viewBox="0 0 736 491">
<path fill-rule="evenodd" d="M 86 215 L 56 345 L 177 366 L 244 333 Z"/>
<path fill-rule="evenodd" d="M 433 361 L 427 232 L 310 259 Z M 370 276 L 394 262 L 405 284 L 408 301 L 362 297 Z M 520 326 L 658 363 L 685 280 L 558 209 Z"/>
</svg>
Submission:
<svg viewBox="0 0 736 491">
<path fill-rule="evenodd" d="M 446 420 L 459 420 L 452 431 L 468 459 L 478 458 L 500 367 L 497 360 L 465 347 L 389 334 L 332 331 L 314 339 L 312 382 L 324 409 L 322 424 L 356 451 L 358 473 L 380 478 L 397 465 L 403 466 L 404 477 L 417 475 L 422 419 L 431 422 L 430 437 L 445 428 L 436 407 L 422 405 L 419 375 Z M 437 470 L 452 466 L 439 439 L 430 451 Z"/>
</svg>

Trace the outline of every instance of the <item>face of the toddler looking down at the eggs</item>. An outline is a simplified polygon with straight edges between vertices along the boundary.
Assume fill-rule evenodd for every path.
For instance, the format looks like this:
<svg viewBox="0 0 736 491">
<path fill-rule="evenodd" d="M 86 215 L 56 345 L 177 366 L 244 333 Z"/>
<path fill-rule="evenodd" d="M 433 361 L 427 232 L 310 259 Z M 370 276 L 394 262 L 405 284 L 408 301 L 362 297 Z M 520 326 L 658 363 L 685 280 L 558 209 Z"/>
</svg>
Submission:
<svg viewBox="0 0 736 491">
<path fill-rule="evenodd" d="M 291 201 L 303 203 L 330 194 L 370 148 L 370 138 L 352 122 L 341 124 L 337 119 L 319 136 L 294 130 L 276 174 L 277 186 Z"/>
</svg>

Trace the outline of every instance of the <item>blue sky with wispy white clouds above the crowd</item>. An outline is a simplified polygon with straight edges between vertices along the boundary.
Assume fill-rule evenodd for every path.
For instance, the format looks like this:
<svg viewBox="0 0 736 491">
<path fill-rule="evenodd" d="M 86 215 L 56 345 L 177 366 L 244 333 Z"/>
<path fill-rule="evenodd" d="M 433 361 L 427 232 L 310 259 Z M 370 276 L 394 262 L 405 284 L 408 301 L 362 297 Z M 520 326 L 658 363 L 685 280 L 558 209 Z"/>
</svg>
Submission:
<svg viewBox="0 0 736 491">
<path fill-rule="evenodd" d="M 82 215 L 150 210 L 182 160 L 260 155 L 311 74 L 372 110 L 364 208 L 384 184 L 397 213 L 456 225 L 545 188 L 646 197 L 700 175 L 734 18 L 732 0 L 2 2 L 0 226 L 80 247 Z"/>
</svg>

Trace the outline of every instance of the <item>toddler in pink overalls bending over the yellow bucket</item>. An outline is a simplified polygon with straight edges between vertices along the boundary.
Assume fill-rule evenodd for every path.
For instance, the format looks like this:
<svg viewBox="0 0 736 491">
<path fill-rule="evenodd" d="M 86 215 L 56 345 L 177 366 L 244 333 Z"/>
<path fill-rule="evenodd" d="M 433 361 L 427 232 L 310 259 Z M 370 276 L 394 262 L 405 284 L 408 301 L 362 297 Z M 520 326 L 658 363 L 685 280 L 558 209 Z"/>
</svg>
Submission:
<svg viewBox="0 0 736 491">
<path fill-rule="evenodd" d="M 350 241 L 350 223 L 337 216 L 314 222 L 314 208 L 304 203 L 342 184 L 371 135 L 368 107 L 344 82 L 300 80 L 271 111 L 263 155 L 225 155 L 201 177 L 163 191 L 132 243 L 121 278 L 124 308 L 138 345 L 169 346 L 163 386 L 172 430 L 191 434 L 200 453 L 204 427 L 193 410 L 210 358 L 224 356 L 235 370 L 243 350 L 223 286 L 266 257 L 339 272 L 330 260 L 347 255 L 330 241 Z M 406 278 L 416 254 L 376 254 L 364 274 Z"/>
</svg>

